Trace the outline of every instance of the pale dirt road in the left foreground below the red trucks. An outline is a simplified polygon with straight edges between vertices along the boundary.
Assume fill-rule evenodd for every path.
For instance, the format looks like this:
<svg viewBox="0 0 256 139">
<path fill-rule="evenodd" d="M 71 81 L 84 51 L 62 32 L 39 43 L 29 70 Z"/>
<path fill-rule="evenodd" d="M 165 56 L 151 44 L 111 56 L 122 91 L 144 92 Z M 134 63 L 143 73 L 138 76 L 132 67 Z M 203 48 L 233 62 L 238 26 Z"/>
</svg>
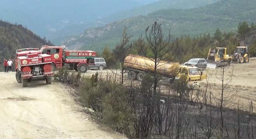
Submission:
<svg viewBox="0 0 256 139">
<path fill-rule="evenodd" d="M 66 87 L 43 81 L 22 88 L 15 73 L 0 72 L 0 139 L 123 139 L 81 112 Z"/>
</svg>

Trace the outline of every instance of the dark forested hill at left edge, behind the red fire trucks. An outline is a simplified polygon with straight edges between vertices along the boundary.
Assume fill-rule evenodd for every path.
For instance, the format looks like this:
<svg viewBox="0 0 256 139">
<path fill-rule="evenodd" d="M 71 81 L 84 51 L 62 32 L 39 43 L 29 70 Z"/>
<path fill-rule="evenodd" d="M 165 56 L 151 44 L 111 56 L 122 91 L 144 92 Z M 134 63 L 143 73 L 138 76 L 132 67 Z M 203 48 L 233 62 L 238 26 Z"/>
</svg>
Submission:
<svg viewBox="0 0 256 139">
<path fill-rule="evenodd" d="M 50 41 L 42 39 L 22 25 L 14 25 L 0 20 L 0 60 L 10 59 L 17 49 L 52 45 Z M 0 68 L 2 70 L 2 68 Z"/>
</svg>

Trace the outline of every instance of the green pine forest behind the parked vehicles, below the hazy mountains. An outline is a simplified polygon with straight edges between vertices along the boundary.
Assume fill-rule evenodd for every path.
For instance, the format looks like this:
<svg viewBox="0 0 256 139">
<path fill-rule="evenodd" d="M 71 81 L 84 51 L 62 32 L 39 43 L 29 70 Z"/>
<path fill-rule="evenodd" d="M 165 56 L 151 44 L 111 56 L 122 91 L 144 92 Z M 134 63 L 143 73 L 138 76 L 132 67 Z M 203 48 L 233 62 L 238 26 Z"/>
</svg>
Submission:
<svg viewBox="0 0 256 139">
<path fill-rule="evenodd" d="M 191 58 L 207 58 L 209 49 L 214 47 L 227 47 L 227 54 L 233 54 L 236 46 L 244 46 L 240 42 L 246 41 L 246 43 L 250 44 L 248 45 L 250 55 L 256 56 L 256 39 L 255 37 L 253 38 L 256 35 L 256 25 L 254 23 L 249 25 L 244 21 L 237 25 L 237 29 L 238 32 L 221 32 L 220 29 L 216 29 L 213 35 L 205 33 L 197 37 L 184 35 L 174 38 L 170 45 L 173 43 L 177 44 L 178 47 L 175 51 L 173 62 L 183 63 Z M 243 38 L 244 36 L 245 39 Z M 165 34 L 164 38 L 167 39 L 167 37 L 168 34 Z M 145 38 L 142 43 L 138 39 L 131 42 L 131 44 L 130 54 L 144 55 L 146 52 L 147 56 L 150 56 L 151 52 L 148 49 L 150 44 Z M 116 47 L 120 45 L 121 41 Z M 172 53 L 170 52 L 170 54 Z M 115 63 L 118 60 L 115 58 L 114 50 L 111 51 L 109 46 L 103 49 L 101 56 L 106 59 L 109 67 L 114 68 L 116 66 Z"/>
</svg>

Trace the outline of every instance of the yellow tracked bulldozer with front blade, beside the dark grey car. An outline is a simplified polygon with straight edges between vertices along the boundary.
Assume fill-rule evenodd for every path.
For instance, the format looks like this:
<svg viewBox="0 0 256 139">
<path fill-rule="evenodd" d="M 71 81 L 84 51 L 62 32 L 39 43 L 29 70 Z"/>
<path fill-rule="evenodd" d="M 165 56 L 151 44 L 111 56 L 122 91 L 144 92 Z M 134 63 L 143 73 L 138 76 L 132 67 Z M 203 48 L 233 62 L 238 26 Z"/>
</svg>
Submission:
<svg viewBox="0 0 256 139">
<path fill-rule="evenodd" d="M 218 66 L 230 65 L 232 56 L 227 54 L 227 47 L 216 47 L 209 49 L 207 56 L 207 68 L 217 68 Z"/>
</svg>

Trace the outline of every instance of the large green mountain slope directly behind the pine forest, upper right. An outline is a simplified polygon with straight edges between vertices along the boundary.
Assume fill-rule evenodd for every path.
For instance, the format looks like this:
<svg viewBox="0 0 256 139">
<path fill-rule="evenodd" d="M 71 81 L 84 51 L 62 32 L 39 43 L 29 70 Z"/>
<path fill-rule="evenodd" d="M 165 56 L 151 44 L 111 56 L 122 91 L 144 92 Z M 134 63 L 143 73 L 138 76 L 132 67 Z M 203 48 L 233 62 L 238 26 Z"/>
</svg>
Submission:
<svg viewBox="0 0 256 139">
<path fill-rule="evenodd" d="M 124 26 L 135 40 L 155 21 L 162 24 L 167 33 L 175 36 L 198 35 L 214 32 L 217 28 L 236 31 L 240 21 L 256 21 L 255 0 L 220 0 L 214 4 L 192 9 L 165 9 L 146 16 L 111 22 L 104 27 L 91 28 L 78 37 L 69 37 L 63 44 L 72 48 L 102 51 L 106 45 L 113 48 L 119 41 Z"/>
</svg>

